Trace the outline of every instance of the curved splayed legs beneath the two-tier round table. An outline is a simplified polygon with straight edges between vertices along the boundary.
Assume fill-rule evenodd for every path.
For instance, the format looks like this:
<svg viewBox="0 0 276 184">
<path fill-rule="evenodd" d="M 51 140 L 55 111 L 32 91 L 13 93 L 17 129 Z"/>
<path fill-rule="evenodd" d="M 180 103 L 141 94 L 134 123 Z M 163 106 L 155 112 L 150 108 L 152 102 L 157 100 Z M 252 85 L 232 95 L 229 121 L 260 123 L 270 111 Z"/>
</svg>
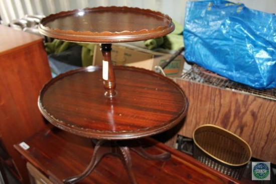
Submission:
<svg viewBox="0 0 276 184">
<path fill-rule="evenodd" d="M 99 163 L 101 158 L 106 154 L 113 154 L 118 156 L 129 176 L 131 183 L 136 184 L 135 174 L 132 170 L 132 161 L 129 149 L 135 151 L 137 154 L 141 155 L 142 157 L 150 160 L 162 160 L 166 161 L 171 158 L 171 154 L 163 153 L 159 155 L 152 155 L 148 153 L 143 147 L 142 144 L 138 140 L 130 140 L 130 141 L 112 141 L 112 140 L 99 140 L 96 143 L 94 148 L 94 153 L 92 159 L 87 166 L 87 168 L 79 175 L 69 177 L 63 180 L 64 183 L 75 183 L 86 176 L 88 176 L 96 165 Z"/>
</svg>

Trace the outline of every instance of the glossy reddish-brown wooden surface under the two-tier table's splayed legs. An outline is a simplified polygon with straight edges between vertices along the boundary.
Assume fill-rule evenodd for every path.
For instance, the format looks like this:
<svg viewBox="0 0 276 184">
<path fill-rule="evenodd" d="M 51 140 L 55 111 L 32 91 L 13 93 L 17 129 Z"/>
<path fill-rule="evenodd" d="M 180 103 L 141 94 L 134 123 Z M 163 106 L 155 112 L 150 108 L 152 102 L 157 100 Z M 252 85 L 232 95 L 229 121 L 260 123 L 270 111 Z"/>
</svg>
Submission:
<svg viewBox="0 0 276 184">
<path fill-rule="evenodd" d="M 54 183 L 81 173 L 93 154 L 91 140 L 65 131 L 41 131 L 24 140 L 30 148 L 24 150 L 19 144 L 16 149 Z M 137 181 L 143 183 L 253 183 L 237 181 L 200 163 L 191 156 L 168 147 L 153 139 L 141 139 L 146 151 L 151 154 L 170 152 L 168 161 L 153 161 L 132 155 L 132 168 Z M 95 170 L 81 183 L 130 183 L 119 158 L 108 155 L 102 158 Z"/>
</svg>

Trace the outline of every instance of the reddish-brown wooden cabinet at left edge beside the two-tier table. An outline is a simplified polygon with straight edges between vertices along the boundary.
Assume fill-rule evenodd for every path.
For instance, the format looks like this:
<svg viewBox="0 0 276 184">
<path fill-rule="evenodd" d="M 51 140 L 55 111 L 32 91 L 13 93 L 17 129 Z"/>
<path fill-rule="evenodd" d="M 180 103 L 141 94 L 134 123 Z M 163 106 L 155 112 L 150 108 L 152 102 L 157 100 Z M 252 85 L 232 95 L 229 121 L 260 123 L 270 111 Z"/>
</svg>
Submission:
<svg viewBox="0 0 276 184">
<path fill-rule="evenodd" d="M 43 38 L 0 25 L 0 159 L 22 183 L 26 163 L 14 148 L 45 126 L 37 100 L 51 79 Z"/>
</svg>

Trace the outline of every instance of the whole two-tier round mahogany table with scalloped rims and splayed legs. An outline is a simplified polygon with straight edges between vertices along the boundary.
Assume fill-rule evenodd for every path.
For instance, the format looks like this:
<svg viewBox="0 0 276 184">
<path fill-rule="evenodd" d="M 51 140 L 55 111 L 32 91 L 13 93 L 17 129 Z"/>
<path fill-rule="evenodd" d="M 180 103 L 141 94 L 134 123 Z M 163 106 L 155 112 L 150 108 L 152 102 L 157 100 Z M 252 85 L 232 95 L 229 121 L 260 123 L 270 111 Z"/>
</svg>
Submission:
<svg viewBox="0 0 276 184">
<path fill-rule="evenodd" d="M 153 71 L 112 66 L 111 43 L 161 37 L 174 30 L 167 15 L 127 7 L 99 7 L 50 15 L 42 20 L 41 33 L 74 41 L 102 43 L 102 66 L 61 74 L 41 90 L 39 108 L 53 125 L 96 139 L 90 164 L 80 175 L 64 180 L 75 183 L 86 177 L 105 154 L 123 162 L 132 183 L 129 149 L 147 159 L 166 160 L 170 154 L 147 153 L 139 139 L 178 124 L 186 115 L 187 98 L 171 79 Z"/>
</svg>

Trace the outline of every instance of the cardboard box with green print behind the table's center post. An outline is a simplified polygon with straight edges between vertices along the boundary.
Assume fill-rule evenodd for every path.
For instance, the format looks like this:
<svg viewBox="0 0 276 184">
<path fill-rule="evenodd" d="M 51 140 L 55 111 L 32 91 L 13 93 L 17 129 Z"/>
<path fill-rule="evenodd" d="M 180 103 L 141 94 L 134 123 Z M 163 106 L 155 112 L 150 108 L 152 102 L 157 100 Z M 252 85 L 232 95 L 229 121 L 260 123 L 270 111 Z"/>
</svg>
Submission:
<svg viewBox="0 0 276 184">
<path fill-rule="evenodd" d="M 171 56 L 172 54 L 153 52 L 130 45 L 112 44 L 111 60 L 113 65 L 133 66 L 154 71 L 155 66 L 160 66 Z M 102 53 L 99 45 L 96 45 L 94 50 L 93 65 L 102 65 Z M 167 77 L 180 77 L 183 67 L 184 57 L 179 55 L 164 69 L 164 72 Z"/>
</svg>

